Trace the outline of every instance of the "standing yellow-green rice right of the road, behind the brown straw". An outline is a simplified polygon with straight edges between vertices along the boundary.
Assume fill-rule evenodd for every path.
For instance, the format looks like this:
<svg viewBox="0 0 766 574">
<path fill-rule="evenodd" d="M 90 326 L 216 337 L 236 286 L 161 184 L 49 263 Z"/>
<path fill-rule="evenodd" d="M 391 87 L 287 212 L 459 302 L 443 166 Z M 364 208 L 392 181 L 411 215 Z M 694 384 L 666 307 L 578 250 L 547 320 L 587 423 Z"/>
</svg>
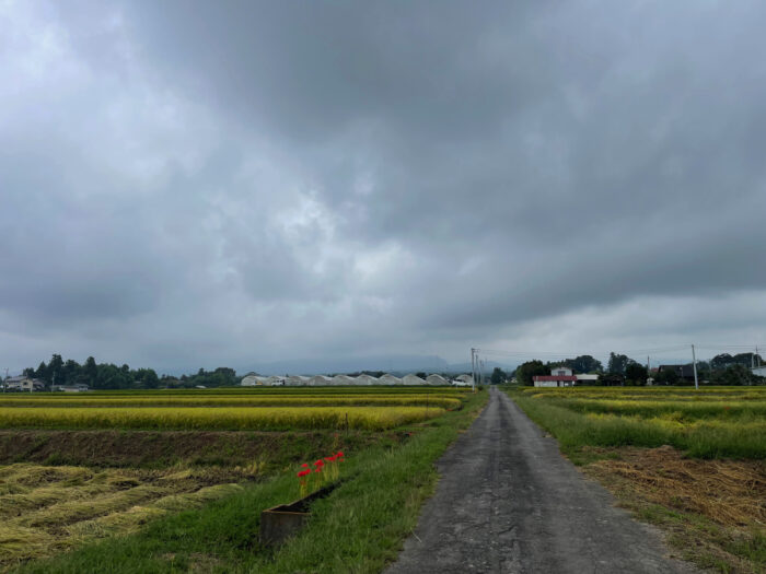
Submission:
<svg viewBox="0 0 766 574">
<path fill-rule="evenodd" d="M 649 389 L 639 396 L 622 389 L 544 389 L 511 396 L 537 424 L 558 438 L 566 450 L 582 446 L 672 445 L 700 458 L 766 458 L 766 394 L 763 401 L 742 401 L 752 390 Z M 673 393 L 700 394 L 710 400 L 655 400 Z M 652 393 L 654 391 L 654 393 Z M 596 398 L 596 397 L 601 398 Z"/>
</svg>

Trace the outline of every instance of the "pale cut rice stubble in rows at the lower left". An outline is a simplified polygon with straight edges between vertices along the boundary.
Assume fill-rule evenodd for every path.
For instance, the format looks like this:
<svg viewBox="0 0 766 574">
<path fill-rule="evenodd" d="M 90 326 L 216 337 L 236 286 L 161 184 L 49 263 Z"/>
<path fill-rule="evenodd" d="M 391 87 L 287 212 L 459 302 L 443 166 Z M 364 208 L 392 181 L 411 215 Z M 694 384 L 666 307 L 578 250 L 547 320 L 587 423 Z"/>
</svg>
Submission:
<svg viewBox="0 0 766 574">
<path fill-rule="evenodd" d="M 148 519 L 239 492 L 246 468 L 140 471 L 0 467 L 0 567 L 135 531 Z"/>
</svg>

